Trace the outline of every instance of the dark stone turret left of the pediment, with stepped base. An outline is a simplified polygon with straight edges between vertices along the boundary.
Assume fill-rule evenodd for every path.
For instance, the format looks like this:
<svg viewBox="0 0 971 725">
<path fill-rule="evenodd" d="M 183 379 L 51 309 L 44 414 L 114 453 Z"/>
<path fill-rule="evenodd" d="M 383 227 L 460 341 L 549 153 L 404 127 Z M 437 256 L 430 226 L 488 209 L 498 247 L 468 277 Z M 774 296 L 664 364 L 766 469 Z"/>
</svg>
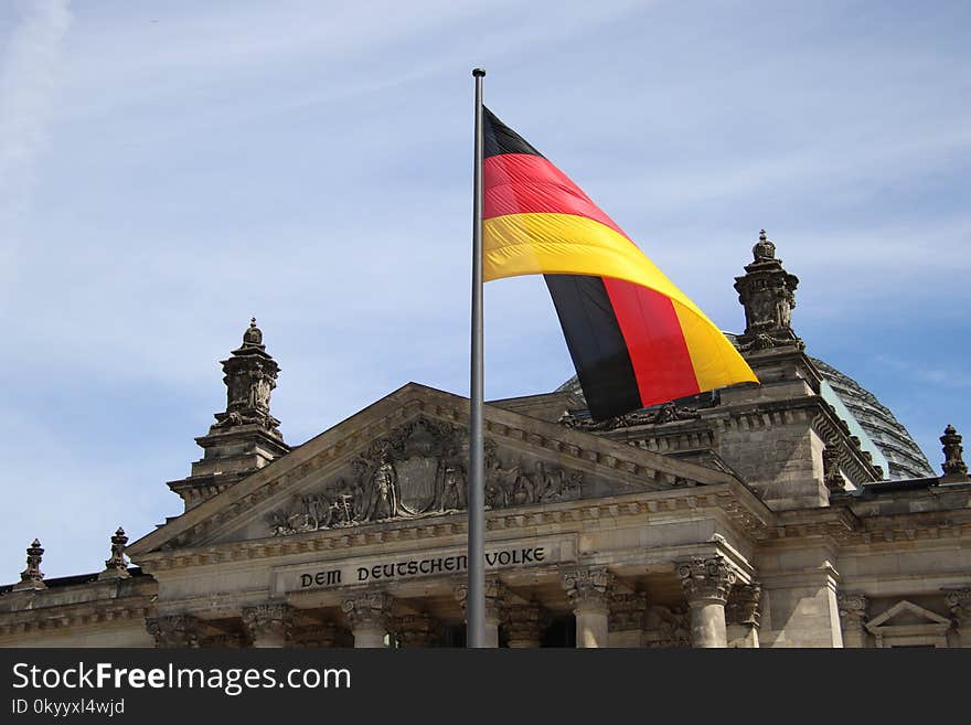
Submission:
<svg viewBox="0 0 971 725">
<path fill-rule="evenodd" d="M 191 509 L 287 454 L 279 425 L 269 409 L 280 367 L 263 344 L 256 318 L 243 333 L 243 344 L 221 362 L 226 384 L 226 409 L 205 436 L 195 439 L 204 450 L 189 478 L 169 488 Z"/>
</svg>

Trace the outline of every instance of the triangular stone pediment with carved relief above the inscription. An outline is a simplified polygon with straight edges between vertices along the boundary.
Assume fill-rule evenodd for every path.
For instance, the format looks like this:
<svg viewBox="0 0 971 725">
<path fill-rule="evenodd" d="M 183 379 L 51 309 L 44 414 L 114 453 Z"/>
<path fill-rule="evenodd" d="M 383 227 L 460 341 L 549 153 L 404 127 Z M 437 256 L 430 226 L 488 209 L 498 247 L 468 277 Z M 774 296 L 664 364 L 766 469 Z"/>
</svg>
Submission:
<svg viewBox="0 0 971 725">
<path fill-rule="evenodd" d="M 468 398 L 391 393 L 128 547 L 152 551 L 354 530 L 466 508 Z M 486 406 L 487 507 L 726 483 L 733 477 Z"/>
</svg>

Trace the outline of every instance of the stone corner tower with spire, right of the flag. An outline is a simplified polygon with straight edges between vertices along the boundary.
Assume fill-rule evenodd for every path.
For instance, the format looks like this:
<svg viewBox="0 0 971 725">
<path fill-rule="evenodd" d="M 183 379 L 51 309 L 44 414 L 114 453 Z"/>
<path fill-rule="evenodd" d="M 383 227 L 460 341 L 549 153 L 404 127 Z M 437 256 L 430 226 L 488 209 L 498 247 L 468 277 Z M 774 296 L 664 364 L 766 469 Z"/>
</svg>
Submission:
<svg viewBox="0 0 971 725">
<path fill-rule="evenodd" d="M 738 416 L 739 425 L 718 436 L 717 452 L 771 509 L 828 505 L 831 495 L 883 475 L 833 407 L 835 394 L 792 330 L 799 279 L 782 267 L 765 230 L 751 253 L 735 278 L 745 308 L 736 345 L 759 385 L 719 392 L 721 411 Z"/>
</svg>

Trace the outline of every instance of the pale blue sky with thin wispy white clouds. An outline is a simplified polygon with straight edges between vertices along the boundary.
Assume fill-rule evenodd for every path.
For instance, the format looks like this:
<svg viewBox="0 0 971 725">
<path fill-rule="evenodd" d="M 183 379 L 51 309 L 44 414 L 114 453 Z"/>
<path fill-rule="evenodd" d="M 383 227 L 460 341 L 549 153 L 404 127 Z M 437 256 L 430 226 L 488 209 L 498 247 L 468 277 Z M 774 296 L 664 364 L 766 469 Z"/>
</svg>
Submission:
<svg viewBox="0 0 971 725">
<path fill-rule="evenodd" d="M 299 444 L 468 390 L 470 70 L 722 328 L 766 228 L 808 352 L 930 462 L 971 434 L 967 2 L 0 3 L 0 582 L 94 572 L 181 502 L 250 316 Z M 487 286 L 488 397 L 573 374 Z"/>
</svg>

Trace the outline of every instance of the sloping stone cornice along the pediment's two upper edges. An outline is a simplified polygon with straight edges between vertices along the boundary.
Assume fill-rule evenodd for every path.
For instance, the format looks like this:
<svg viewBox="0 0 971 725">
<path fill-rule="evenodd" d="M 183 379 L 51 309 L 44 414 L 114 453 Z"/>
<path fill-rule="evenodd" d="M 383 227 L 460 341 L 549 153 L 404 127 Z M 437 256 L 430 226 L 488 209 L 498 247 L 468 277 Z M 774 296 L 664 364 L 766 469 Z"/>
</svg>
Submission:
<svg viewBox="0 0 971 725">
<path fill-rule="evenodd" d="M 466 398 L 415 383 L 399 388 L 348 420 L 295 448 L 232 488 L 200 503 L 159 530 L 131 544 L 134 561 L 163 546 L 184 547 L 192 541 L 212 539 L 232 521 L 275 494 L 284 497 L 290 483 L 328 467 L 337 468 L 371 441 L 390 434 L 419 414 L 458 425 L 468 419 Z M 565 466 L 602 472 L 612 479 L 644 488 L 668 488 L 681 482 L 718 484 L 736 481 L 708 468 L 613 443 L 591 434 L 516 413 L 486 408 L 487 435 L 503 445 L 524 450 L 547 449 Z"/>
</svg>

